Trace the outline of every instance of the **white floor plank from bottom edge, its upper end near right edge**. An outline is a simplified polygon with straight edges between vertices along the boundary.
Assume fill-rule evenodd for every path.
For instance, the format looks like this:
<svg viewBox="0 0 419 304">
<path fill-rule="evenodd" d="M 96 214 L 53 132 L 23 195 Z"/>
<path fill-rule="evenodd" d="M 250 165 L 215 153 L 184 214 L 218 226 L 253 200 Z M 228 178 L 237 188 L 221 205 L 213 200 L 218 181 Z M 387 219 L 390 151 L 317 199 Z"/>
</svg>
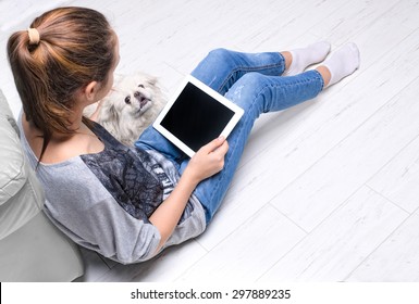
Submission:
<svg viewBox="0 0 419 304">
<path fill-rule="evenodd" d="M 260 281 L 342 281 L 408 214 L 362 187 Z"/>
</svg>

